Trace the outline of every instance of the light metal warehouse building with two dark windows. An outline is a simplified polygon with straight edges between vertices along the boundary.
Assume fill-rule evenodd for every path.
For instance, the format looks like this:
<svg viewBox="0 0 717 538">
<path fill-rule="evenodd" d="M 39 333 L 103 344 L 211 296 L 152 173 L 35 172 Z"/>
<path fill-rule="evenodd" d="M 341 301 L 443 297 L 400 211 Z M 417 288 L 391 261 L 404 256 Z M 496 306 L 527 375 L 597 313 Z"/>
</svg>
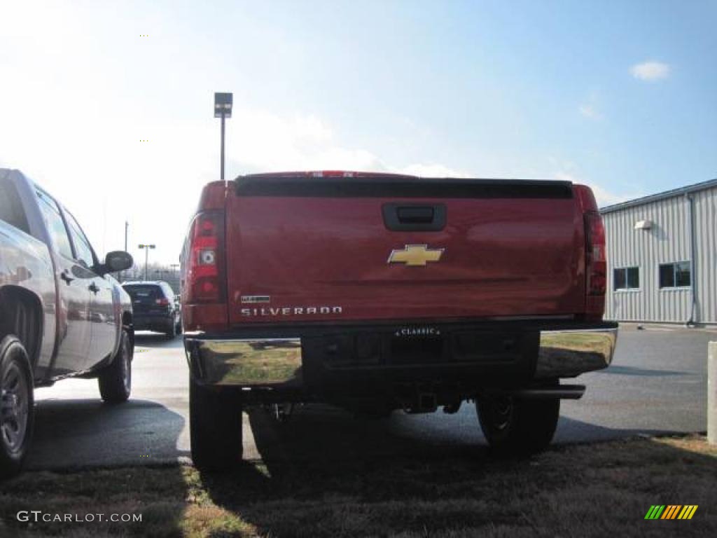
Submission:
<svg viewBox="0 0 717 538">
<path fill-rule="evenodd" d="M 600 211 L 605 318 L 717 324 L 717 179 Z"/>
</svg>

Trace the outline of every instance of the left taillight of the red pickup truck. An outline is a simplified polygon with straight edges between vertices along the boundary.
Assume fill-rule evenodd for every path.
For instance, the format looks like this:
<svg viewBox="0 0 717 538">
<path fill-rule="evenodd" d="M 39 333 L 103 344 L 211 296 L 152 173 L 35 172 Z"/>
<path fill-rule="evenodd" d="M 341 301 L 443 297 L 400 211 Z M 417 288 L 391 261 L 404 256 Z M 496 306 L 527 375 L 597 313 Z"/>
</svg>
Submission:
<svg viewBox="0 0 717 538">
<path fill-rule="evenodd" d="M 186 259 L 187 303 L 222 303 L 224 283 L 224 212 L 206 211 L 194 217 Z"/>
</svg>

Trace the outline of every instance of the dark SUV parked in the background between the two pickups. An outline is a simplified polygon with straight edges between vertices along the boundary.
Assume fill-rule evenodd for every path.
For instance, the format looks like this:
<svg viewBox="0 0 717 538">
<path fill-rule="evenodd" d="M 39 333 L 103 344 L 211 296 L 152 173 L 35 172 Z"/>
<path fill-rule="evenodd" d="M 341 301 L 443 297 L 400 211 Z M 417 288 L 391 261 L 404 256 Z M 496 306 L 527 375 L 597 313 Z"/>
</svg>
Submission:
<svg viewBox="0 0 717 538">
<path fill-rule="evenodd" d="M 122 287 L 132 298 L 135 331 L 157 331 L 170 339 L 181 333 L 179 305 L 168 283 L 125 282 Z"/>
</svg>

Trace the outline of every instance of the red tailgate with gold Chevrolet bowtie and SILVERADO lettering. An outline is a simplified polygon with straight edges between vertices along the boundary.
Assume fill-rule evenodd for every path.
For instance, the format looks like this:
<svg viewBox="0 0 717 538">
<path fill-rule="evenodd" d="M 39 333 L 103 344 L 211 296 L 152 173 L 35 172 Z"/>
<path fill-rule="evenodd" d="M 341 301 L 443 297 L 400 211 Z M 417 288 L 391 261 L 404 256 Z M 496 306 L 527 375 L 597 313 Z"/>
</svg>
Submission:
<svg viewBox="0 0 717 538">
<path fill-rule="evenodd" d="M 242 176 L 225 225 L 230 324 L 584 310 L 569 182 Z"/>
</svg>

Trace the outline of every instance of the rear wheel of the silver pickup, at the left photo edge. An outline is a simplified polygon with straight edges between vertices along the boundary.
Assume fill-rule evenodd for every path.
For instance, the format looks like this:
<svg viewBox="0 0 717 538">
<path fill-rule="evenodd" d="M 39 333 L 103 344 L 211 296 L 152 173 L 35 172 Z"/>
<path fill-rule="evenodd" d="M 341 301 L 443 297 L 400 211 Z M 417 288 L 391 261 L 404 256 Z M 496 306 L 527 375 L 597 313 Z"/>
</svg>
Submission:
<svg viewBox="0 0 717 538">
<path fill-rule="evenodd" d="M 14 335 L 0 341 L 0 479 L 20 472 L 35 422 L 32 369 Z"/>
</svg>

